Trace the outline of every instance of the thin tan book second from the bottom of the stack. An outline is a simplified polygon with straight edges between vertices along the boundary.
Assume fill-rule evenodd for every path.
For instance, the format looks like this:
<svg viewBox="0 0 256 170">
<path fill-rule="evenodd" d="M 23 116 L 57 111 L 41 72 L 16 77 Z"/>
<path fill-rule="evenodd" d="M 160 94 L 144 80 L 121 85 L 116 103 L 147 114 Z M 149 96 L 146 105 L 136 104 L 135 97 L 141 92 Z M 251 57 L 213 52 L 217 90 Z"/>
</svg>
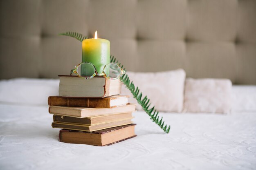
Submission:
<svg viewBox="0 0 256 170">
<path fill-rule="evenodd" d="M 132 124 L 131 121 L 132 117 L 128 119 L 123 119 L 119 121 L 112 121 L 112 122 L 107 122 L 103 124 L 94 124 L 91 126 L 88 125 L 81 125 L 81 124 L 67 124 L 67 123 L 52 123 L 53 128 L 61 128 L 61 129 L 70 129 L 70 130 L 80 130 L 80 131 L 85 131 L 85 132 L 93 132 L 96 130 L 102 130 L 106 128 L 112 128 L 116 126 L 123 126 L 127 124 Z"/>
</svg>

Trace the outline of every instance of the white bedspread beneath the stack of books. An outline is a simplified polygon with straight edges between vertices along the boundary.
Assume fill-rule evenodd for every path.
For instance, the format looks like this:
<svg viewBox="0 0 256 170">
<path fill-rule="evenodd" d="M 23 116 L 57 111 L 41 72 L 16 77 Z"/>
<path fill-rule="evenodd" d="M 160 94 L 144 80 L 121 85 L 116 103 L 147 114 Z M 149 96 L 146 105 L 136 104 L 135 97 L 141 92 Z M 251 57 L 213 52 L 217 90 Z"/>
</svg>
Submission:
<svg viewBox="0 0 256 170">
<path fill-rule="evenodd" d="M 106 147 L 66 144 L 47 106 L 0 104 L 1 170 L 252 170 L 256 113 L 163 113 L 165 134 L 134 113 L 137 137 Z"/>
</svg>

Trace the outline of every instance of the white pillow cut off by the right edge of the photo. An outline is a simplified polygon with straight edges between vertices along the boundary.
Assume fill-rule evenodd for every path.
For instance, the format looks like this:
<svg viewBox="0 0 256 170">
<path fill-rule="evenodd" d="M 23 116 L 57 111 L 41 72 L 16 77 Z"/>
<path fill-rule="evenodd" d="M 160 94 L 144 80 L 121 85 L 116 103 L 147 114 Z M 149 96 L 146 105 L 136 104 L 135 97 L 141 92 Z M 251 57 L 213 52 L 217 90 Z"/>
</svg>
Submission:
<svg viewBox="0 0 256 170">
<path fill-rule="evenodd" d="M 256 111 L 256 86 L 234 85 L 232 112 Z"/>
</svg>

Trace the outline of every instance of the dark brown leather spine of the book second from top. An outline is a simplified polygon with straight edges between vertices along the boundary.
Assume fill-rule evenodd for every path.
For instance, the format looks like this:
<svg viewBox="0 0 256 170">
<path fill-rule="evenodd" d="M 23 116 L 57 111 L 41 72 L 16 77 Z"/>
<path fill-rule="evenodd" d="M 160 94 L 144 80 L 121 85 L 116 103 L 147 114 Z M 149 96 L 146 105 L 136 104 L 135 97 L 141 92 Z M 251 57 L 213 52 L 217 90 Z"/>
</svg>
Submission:
<svg viewBox="0 0 256 170">
<path fill-rule="evenodd" d="M 110 98 L 97 99 L 49 96 L 48 105 L 68 107 L 110 108 Z"/>
</svg>

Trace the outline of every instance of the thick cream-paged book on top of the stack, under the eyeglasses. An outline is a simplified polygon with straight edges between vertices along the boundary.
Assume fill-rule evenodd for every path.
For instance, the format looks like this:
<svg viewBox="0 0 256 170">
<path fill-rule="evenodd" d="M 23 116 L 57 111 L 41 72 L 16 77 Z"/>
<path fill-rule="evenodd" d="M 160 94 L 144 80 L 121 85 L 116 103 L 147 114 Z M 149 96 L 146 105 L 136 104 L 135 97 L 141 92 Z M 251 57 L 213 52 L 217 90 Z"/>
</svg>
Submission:
<svg viewBox="0 0 256 170">
<path fill-rule="evenodd" d="M 58 94 L 64 97 L 108 97 L 121 93 L 120 79 L 108 79 L 95 76 L 92 79 L 82 79 L 78 76 L 59 75 Z"/>
</svg>

